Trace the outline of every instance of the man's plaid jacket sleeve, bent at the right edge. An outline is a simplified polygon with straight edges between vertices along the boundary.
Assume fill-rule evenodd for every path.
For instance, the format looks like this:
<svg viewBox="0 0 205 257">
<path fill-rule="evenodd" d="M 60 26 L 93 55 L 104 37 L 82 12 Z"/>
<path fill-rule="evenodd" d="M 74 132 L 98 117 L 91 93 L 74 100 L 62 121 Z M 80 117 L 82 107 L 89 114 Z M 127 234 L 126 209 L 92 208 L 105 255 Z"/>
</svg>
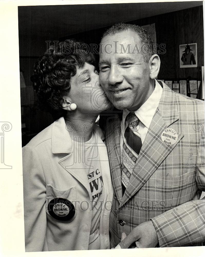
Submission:
<svg viewBox="0 0 205 257">
<path fill-rule="evenodd" d="M 205 191 L 204 131 L 198 148 L 195 179 Z M 192 200 L 152 218 L 160 247 L 190 246 L 205 241 L 205 197 Z"/>
</svg>

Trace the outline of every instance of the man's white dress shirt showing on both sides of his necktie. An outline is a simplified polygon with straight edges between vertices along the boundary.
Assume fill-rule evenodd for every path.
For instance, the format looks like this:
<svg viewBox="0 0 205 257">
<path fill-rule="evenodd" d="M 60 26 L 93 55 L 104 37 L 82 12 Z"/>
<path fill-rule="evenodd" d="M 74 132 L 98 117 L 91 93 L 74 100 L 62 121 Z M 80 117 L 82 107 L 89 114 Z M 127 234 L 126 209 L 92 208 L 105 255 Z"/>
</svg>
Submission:
<svg viewBox="0 0 205 257">
<path fill-rule="evenodd" d="M 152 92 L 151 96 L 146 100 L 146 102 L 139 107 L 137 111 L 135 111 L 135 115 L 139 119 L 139 125 L 137 127 L 138 133 L 140 134 L 142 144 L 145 140 L 148 128 L 151 124 L 152 118 L 156 112 L 156 109 L 159 105 L 160 98 L 162 96 L 162 87 L 160 84 L 157 82 L 155 79 L 155 88 L 154 91 Z M 124 132 L 125 132 L 125 118 L 128 115 L 130 111 L 128 109 L 125 109 L 123 111 L 123 117 L 122 117 L 122 122 L 121 122 L 121 128 L 122 128 L 122 133 L 121 135 L 124 137 Z M 127 124 L 126 124 L 127 125 Z M 136 135 L 137 133 L 133 131 Z M 120 142 L 123 142 L 122 140 Z M 121 149 L 122 149 L 122 144 L 121 144 Z"/>
</svg>

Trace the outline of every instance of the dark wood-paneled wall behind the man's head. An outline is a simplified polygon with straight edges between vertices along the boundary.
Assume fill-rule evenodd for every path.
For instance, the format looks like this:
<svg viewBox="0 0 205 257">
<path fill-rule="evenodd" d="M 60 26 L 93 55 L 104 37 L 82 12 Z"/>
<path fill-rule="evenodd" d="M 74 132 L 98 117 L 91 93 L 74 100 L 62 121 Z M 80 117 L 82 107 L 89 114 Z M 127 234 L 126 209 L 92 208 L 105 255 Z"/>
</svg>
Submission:
<svg viewBox="0 0 205 257">
<path fill-rule="evenodd" d="M 130 21 L 139 26 L 155 23 L 157 44 L 166 44 L 166 52 L 160 54 L 161 68 L 158 78 L 199 79 L 199 67 L 204 65 L 203 6 Z M 106 28 L 68 35 L 60 40 L 76 38 L 87 44 L 99 44 Z M 180 68 L 179 45 L 197 43 L 198 67 Z M 97 62 L 98 62 L 98 56 Z"/>
</svg>

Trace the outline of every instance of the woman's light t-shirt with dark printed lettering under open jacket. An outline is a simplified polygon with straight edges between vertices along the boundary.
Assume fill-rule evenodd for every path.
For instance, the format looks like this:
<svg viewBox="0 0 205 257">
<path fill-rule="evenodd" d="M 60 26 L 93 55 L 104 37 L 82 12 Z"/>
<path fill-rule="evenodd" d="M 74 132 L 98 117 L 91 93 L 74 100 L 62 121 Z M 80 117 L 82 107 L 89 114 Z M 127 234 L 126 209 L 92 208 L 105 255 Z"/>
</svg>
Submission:
<svg viewBox="0 0 205 257">
<path fill-rule="evenodd" d="M 104 203 L 103 176 L 101 174 L 101 162 L 98 154 L 98 146 L 94 133 L 90 140 L 85 143 L 73 141 L 73 154 L 78 155 L 79 169 L 76 172 L 83 172 L 88 179 L 88 190 L 91 193 L 92 202 L 89 203 L 92 212 L 88 250 L 100 249 L 99 222 L 100 214 Z M 85 221 L 86 222 L 86 221 Z"/>
</svg>

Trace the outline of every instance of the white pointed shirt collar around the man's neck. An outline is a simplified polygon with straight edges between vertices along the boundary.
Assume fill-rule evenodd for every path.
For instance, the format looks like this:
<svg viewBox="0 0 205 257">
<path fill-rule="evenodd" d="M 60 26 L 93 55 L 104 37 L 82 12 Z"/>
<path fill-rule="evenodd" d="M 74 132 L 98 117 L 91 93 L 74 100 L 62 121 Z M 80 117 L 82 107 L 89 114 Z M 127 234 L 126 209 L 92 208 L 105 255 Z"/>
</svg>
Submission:
<svg viewBox="0 0 205 257">
<path fill-rule="evenodd" d="M 138 119 L 147 127 L 149 128 L 150 123 L 152 121 L 152 118 L 156 112 L 156 109 L 159 105 L 160 98 L 162 96 L 162 87 L 155 79 L 155 88 L 152 92 L 151 96 L 146 100 L 146 102 L 139 107 L 137 111 L 135 111 L 135 115 L 138 117 Z M 123 111 L 123 121 L 125 121 L 125 118 L 127 114 L 130 111 L 128 109 L 125 109 Z"/>
</svg>

